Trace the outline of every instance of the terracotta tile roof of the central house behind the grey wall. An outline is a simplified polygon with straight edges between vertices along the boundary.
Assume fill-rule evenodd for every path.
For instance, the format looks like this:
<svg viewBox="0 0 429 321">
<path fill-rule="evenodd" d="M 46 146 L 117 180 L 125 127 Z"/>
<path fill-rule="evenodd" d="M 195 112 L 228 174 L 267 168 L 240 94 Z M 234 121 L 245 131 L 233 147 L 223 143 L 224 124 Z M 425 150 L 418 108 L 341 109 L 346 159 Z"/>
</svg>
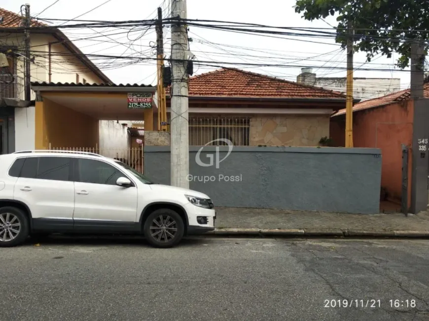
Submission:
<svg viewBox="0 0 429 321">
<path fill-rule="evenodd" d="M 189 96 L 346 98 L 339 92 L 235 68 L 223 68 L 191 77 Z"/>
</svg>

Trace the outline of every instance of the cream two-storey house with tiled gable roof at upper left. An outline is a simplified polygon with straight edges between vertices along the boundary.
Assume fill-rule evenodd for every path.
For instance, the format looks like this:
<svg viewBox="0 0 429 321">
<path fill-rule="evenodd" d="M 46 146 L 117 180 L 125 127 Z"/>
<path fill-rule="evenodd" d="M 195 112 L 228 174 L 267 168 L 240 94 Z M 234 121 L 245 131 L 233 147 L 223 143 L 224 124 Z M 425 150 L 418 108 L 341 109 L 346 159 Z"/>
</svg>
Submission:
<svg viewBox="0 0 429 321">
<path fill-rule="evenodd" d="M 2 87 L 6 98 L 23 99 L 24 78 L 24 27 L 20 14 L 0 8 L 1 52 L 8 56 L 8 70 L 14 75 L 15 87 Z M 59 29 L 36 20 L 31 21 L 31 81 L 111 83 L 111 80 L 93 64 Z M 3 83 L 6 79 L 3 79 Z M 1 96 L 1 98 L 3 98 Z M 11 97 L 9 97 L 11 96 Z M 34 95 L 33 95 L 34 98 Z"/>
</svg>

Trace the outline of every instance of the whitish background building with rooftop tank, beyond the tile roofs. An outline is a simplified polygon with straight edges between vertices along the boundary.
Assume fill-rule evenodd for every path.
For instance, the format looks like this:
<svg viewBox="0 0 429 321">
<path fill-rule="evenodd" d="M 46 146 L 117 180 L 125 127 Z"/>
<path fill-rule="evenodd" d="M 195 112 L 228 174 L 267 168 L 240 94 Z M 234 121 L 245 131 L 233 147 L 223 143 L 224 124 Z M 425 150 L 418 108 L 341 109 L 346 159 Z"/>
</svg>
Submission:
<svg viewBox="0 0 429 321">
<path fill-rule="evenodd" d="M 302 68 L 296 82 L 346 93 L 346 77 L 317 77 L 312 68 Z M 367 100 L 401 90 L 400 78 L 353 78 L 353 98 Z"/>
</svg>

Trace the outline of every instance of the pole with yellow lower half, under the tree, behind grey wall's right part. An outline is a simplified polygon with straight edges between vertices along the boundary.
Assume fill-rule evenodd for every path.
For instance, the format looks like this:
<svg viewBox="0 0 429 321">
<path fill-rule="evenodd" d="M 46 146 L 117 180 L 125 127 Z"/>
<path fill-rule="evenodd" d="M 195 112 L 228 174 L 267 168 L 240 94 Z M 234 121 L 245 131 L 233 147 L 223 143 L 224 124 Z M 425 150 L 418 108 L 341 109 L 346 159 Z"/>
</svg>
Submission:
<svg viewBox="0 0 429 321">
<path fill-rule="evenodd" d="M 346 147 L 353 147 L 353 35 L 352 23 L 347 29 L 347 100 L 346 100 Z"/>
</svg>

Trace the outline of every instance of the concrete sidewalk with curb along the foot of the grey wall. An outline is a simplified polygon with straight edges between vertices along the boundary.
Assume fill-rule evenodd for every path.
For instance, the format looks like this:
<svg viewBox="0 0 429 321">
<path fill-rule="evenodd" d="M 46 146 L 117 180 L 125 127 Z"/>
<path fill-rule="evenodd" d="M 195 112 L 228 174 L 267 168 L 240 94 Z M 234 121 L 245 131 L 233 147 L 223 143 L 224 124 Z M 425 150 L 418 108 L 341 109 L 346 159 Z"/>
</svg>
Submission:
<svg viewBox="0 0 429 321">
<path fill-rule="evenodd" d="M 250 208 L 216 208 L 207 235 L 429 237 L 429 212 L 342 214 Z"/>
</svg>

